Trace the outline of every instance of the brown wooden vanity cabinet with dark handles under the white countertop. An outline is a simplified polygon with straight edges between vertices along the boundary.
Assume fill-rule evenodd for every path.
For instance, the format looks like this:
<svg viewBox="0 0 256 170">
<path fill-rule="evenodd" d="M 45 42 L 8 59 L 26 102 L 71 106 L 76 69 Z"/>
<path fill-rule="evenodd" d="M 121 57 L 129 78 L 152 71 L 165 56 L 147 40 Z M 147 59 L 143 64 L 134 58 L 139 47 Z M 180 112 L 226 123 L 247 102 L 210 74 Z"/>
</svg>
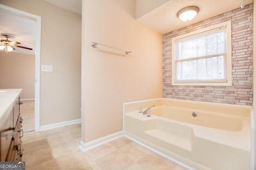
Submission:
<svg viewBox="0 0 256 170">
<path fill-rule="evenodd" d="M 20 116 L 20 97 L 0 129 L 0 161 L 22 161 L 22 117 Z"/>
</svg>

